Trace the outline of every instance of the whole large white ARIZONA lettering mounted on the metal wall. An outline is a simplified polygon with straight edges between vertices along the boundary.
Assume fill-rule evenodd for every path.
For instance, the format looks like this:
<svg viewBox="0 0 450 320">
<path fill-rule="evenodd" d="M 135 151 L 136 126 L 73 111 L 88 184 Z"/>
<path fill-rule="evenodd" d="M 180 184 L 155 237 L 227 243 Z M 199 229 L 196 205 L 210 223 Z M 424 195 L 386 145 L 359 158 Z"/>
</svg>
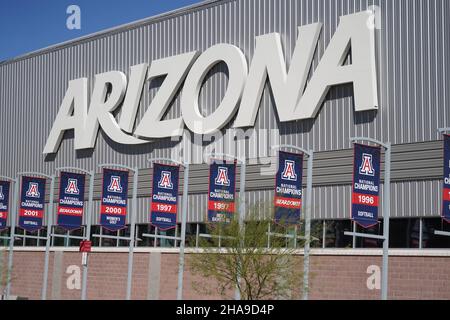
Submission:
<svg viewBox="0 0 450 320">
<path fill-rule="evenodd" d="M 281 35 L 271 33 L 256 37 L 250 68 L 238 47 L 216 44 L 202 54 L 193 51 L 155 60 L 150 66 L 146 63 L 131 66 L 128 83 L 120 71 L 97 74 L 89 109 L 88 80 L 72 80 L 43 153 L 57 152 L 64 132 L 70 129 L 75 131 L 74 146 L 79 150 L 94 148 L 100 127 L 112 141 L 125 145 L 181 136 L 184 125 L 194 133 L 211 134 L 227 125 L 236 112 L 233 127 L 250 127 L 255 124 L 267 82 L 281 122 L 315 118 L 329 89 L 346 83 L 353 84 L 356 111 L 377 110 L 373 17 L 370 11 L 341 17 L 313 71 L 310 69 L 322 30 L 320 23 L 298 28 L 289 66 Z M 349 52 L 350 63 L 344 64 Z M 216 110 L 204 116 L 198 104 L 200 90 L 207 73 L 220 62 L 228 68 L 228 87 Z M 310 71 L 312 77 L 308 82 Z M 164 77 L 164 81 L 135 129 L 145 84 L 157 77 Z M 163 119 L 178 92 L 181 92 L 181 116 Z M 117 116 L 119 109 L 121 113 Z"/>
</svg>

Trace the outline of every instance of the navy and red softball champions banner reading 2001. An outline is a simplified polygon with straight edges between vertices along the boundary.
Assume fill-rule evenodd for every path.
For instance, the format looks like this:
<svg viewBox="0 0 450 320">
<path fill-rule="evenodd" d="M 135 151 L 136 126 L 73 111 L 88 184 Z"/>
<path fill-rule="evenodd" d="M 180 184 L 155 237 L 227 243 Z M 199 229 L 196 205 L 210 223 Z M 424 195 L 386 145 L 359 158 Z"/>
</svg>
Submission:
<svg viewBox="0 0 450 320">
<path fill-rule="evenodd" d="M 45 179 L 22 177 L 19 227 L 26 231 L 42 228 L 44 218 Z"/>
</svg>

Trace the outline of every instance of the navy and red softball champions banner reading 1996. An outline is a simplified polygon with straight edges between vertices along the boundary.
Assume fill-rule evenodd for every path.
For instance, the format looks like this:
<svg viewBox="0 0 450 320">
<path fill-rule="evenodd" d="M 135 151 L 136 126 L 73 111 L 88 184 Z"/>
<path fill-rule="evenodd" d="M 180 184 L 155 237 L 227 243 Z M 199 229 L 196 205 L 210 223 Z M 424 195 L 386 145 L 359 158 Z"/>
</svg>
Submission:
<svg viewBox="0 0 450 320">
<path fill-rule="evenodd" d="M 356 144 L 353 160 L 352 220 L 363 228 L 378 223 L 380 148 Z"/>
</svg>

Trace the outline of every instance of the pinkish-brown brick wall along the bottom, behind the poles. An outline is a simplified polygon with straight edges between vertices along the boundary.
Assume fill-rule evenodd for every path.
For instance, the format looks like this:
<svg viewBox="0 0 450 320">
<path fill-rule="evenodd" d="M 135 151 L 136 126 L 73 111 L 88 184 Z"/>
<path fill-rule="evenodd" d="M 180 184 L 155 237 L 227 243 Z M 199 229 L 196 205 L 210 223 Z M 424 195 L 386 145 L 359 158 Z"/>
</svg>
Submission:
<svg viewBox="0 0 450 320">
<path fill-rule="evenodd" d="M 153 260 L 152 260 L 153 259 Z M 301 259 L 301 257 L 299 257 Z M 152 262 L 153 261 L 153 262 Z M 187 263 L 189 254 L 187 254 Z M 369 290 L 370 265 L 381 265 L 377 255 L 311 256 L 310 299 L 379 299 L 380 290 Z M 44 252 L 15 251 L 11 294 L 40 299 Z M 79 299 L 80 289 L 69 290 L 69 266 L 78 266 L 82 275 L 81 254 L 71 251 L 51 252 L 49 260 L 48 299 Z M 88 299 L 124 299 L 126 295 L 128 254 L 93 252 L 89 257 Z M 450 300 L 450 256 L 390 256 L 390 299 Z M 132 299 L 176 299 L 178 254 L 169 252 L 134 253 Z M 194 283 L 214 282 L 184 274 L 184 299 L 219 299 L 194 290 Z M 230 292 L 232 297 L 233 293 Z"/>
</svg>

